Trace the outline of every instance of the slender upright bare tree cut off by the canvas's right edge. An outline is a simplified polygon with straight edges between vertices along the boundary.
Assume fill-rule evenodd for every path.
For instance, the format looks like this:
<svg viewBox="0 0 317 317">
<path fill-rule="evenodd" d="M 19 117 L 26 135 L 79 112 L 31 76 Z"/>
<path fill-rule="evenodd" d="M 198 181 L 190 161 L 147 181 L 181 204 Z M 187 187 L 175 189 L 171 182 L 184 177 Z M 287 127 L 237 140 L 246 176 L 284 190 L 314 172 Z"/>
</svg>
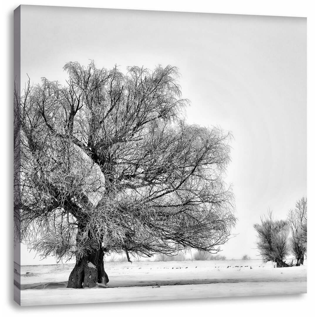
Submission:
<svg viewBox="0 0 317 317">
<path fill-rule="evenodd" d="M 304 264 L 307 253 L 307 197 L 302 197 L 295 204 L 295 209 L 288 212 L 288 224 L 291 230 L 291 252 L 297 259 L 297 266 Z"/>
</svg>

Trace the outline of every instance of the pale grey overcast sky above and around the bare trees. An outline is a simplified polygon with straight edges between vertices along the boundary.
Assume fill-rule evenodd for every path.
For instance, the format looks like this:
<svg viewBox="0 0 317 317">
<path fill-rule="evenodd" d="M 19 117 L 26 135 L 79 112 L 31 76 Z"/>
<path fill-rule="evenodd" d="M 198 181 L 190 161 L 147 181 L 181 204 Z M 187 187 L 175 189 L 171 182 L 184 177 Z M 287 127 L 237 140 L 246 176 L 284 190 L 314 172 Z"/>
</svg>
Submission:
<svg viewBox="0 0 317 317">
<path fill-rule="evenodd" d="M 68 61 L 177 66 L 187 121 L 231 131 L 236 237 L 221 255 L 256 258 L 253 224 L 307 195 L 306 18 L 22 6 L 21 78 L 64 83 Z M 39 262 L 22 248 L 21 264 Z"/>
</svg>

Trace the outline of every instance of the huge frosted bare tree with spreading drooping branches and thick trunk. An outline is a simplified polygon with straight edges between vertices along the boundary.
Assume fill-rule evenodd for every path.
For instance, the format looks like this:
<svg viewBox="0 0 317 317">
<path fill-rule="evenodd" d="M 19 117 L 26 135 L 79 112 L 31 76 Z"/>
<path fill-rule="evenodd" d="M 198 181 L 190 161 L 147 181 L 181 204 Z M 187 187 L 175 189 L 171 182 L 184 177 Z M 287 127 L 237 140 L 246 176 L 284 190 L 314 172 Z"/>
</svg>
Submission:
<svg viewBox="0 0 317 317">
<path fill-rule="evenodd" d="M 75 256 L 71 288 L 108 282 L 104 254 L 219 251 L 236 221 L 230 133 L 186 123 L 177 68 L 64 70 L 66 86 L 42 78 L 16 93 L 19 239 Z"/>
</svg>

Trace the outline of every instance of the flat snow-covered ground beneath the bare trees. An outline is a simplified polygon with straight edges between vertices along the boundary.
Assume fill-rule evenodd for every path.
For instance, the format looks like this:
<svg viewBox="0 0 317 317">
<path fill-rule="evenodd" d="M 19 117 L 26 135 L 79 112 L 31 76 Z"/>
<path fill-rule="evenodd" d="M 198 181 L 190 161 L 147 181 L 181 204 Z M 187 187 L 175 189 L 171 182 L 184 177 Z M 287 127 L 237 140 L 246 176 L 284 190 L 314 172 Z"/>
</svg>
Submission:
<svg viewBox="0 0 317 317">
<path fill-rule="evenodd" d="M 15 265 L 15 276 L 21 270 L 21 305 L 28 306 L 306 293 L 306 264 L 274 268 L 261 260 L 105 262 L 108 287 L 90 289 L 66 288 L 74 264 Z"/>
</svg>

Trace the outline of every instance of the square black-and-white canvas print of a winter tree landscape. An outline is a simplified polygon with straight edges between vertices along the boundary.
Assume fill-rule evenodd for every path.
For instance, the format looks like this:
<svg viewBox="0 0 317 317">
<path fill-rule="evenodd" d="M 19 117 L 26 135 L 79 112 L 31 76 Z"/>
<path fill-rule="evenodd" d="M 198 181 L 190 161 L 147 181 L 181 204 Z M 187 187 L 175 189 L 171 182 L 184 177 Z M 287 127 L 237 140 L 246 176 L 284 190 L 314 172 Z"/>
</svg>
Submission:
<svg viewBox="0 0 317 317">
<path fill-rule="evenodd" d="M 306 18 L 14 23 L 16 302 L 306 293 Z"/>
</svg>

